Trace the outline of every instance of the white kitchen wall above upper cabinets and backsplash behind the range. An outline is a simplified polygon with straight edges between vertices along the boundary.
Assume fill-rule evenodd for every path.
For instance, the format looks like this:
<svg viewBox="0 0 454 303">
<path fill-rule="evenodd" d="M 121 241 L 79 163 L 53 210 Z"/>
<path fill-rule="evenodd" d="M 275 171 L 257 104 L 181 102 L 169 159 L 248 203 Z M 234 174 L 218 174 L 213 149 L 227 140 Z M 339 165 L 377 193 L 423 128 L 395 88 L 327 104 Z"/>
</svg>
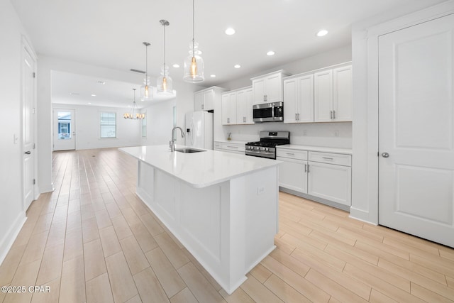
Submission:
<svg viewBox="0 0 454 303">
<path fill-rule="evenodd" d="M 348 62 L 352 59 L 351 47 L 347 45 L 343 48 L 330 50 L 326 53 L 321 53 L 312 57 L 287 63 L 275 67 L 272 70 L 264 70 L 260 74 L 250 75 L 237 79 L 233 82 L 227 82 L 219 85 L 228 89 L 238 89 L 247 87 L 252 84 L 251 77 L 264 75 L 267 72 L 276 70 L 285 70 L 290 75 L 297 75 L 302 72 L 309 72 L 319 68 L 336 65 L 343 62 Z M 221 104 L 216 104 L 216 109 L 221 109 Z M 215 116 L 216 117 L 216 116 Z M 215 123 L 221 123 L 220 116 Z M 329 146 L 335 148 L 351 148 L 352 147 L 352 123 L 260 123 L 247 126 L 222 126 L 215 127 L 214 138 L 216 140 L 225 140 L 227 133 L 231 133 L 231 138 L 234 141 L 258 141 L 260 131 L 289 131 L 290 142 L 299 145 L 316 145 Z M 306 136 L 304 136 L 306 132 Z M 337 136 L 336 136 L 337 134 Z"/>
</svg>

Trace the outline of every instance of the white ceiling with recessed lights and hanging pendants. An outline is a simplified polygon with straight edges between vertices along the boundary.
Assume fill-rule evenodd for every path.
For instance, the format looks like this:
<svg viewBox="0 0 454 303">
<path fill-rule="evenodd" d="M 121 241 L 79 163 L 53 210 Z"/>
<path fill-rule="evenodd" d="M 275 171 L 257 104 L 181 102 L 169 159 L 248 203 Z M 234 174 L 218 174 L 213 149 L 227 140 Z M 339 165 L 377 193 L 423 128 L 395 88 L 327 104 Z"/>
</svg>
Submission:
<svg viewBox="0 0 454 303">
<path fill-rule="evenodd" d="M 442 0 L 195 0 L 195 39 L 205 62 L 205 82 L 209 87 L 237 77 L 247 77 L 284 63 L 299 60 L 351 43 L 351 24 L 400 6 L 428 6 Z M 114 70 L 145 70 L 160 73 L 163 62 L 163 32 L 160 19 L 167 19 L 167 64 L 170 77 L 182 81 L 184 58 L 192 39 L 191 0 L 11 0 L 31 37 L 38 55 L 82 62 Z M 226 35 L 228 27 L 235 35 Z M 320 29 L 329 31 L 316 37 Z M 274 50 L 274 56 L 267 56 Z M 172 67 L 174 63 L 181 67 Z M 233 65 L 241 65 L 236 69 Z M 210 75 L 216 75 L 211 78 Z M 83 75 L 61 75 L 53 82 L 55 96 L 85 91 L 67 87 L 74 77 L 86 85 Z M 96 82 L 102 79 L 96 79 Z M 106 83 L 109 83 L 106 79 Z M 57 78 L 55 77 L 55 81 Z M 137 84 L 137 87 L 140 83 Z M 96 86 L 95 86 L 96 87 Z M 120 89 L 118 85 L 117 88 Z M 108 89 L 98 84 L 96 89 Z M 111 88 L 109 88 L 111 89 Z M 131 83 L 125 84 L 131 90 Z M 111 92 L 114 92 L 111 89 Z M 116 91 L 115 91 L 116 92 Z M 53 100 L 52 92 L 52 101 Z M 131 101 L 132 93 L 124 92 Z M 114 99 L 114 96 L 111 96 Z M 109 100 L 110 101 L 110 100 Z M 87 99 L 84 99 L 87 103 Z"/>
</svg>

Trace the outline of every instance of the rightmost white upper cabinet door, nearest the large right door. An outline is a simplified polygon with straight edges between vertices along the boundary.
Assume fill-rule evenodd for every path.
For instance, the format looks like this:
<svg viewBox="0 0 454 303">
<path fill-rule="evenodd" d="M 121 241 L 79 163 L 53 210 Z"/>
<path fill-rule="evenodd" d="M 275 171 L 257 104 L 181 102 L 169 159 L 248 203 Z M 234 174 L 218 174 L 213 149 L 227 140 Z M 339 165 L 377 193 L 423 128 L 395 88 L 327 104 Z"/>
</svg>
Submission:
<svg viewBox="0 0 454 303">
<path fill-rule="evenodd" d="M 352 67 L 333 70 L 333 121 L 352 121 Z"/>
</svg>

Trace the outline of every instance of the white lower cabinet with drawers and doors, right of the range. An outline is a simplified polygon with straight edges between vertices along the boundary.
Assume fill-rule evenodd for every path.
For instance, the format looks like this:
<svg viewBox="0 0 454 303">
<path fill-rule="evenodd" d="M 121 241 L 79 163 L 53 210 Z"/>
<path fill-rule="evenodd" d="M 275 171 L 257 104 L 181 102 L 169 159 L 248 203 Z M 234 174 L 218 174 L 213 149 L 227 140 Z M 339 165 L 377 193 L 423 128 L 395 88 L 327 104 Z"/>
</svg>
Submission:
<svg viewBox="0 0 454 303">
<path fill-rule="evenodd" d="M 351 155 L 277 148 L 276 160 L 280 187 L 351 205 Z"/>
</svg>

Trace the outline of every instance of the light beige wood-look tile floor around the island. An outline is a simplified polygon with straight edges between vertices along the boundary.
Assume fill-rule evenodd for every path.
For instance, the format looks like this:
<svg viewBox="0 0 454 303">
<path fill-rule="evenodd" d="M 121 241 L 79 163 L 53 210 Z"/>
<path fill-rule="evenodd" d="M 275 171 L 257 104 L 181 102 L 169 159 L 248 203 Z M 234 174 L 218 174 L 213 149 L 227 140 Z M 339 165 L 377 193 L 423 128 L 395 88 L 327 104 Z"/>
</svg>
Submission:
<svg viewBox="0 0 454 303">
<path fill-rule="evenodd" d="M 277 249 L 230 296 L 135 196 L 116 149 L 53 154 L 41 194 L 0 267 L 0 302 L 454 302 L 454 250 L 279 195 Z"/>
</svg>

